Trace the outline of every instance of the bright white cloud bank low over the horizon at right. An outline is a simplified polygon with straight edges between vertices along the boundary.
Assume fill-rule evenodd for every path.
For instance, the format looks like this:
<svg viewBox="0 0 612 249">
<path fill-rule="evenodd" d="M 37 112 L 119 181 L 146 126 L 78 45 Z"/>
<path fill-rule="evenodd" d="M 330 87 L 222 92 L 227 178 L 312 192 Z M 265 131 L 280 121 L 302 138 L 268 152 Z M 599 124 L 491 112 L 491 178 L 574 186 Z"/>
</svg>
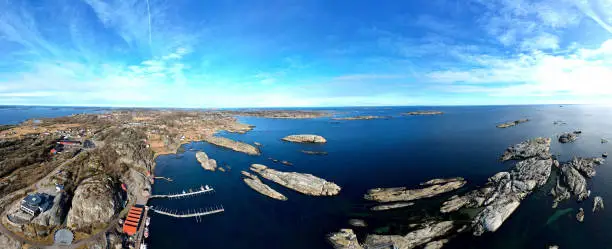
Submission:
<svg viewBox="0 0 612 249">
<path fill-rule="evenodd" d="M 612 97 L 612 40 L 595 49 L 564 55 L 541 51 L 511 56 L 476 56 L 477 68 L 451 69 L 427 74 L 427 79 L 451 84 L 453 89 L 487 92 L 490 96 Z M 474 56 L 466 56 L 471 60 Z M 467 84 L 472 85 L 465 88 Z M 612 99 L 611 99 L 612 100 Z"/>
</svg>

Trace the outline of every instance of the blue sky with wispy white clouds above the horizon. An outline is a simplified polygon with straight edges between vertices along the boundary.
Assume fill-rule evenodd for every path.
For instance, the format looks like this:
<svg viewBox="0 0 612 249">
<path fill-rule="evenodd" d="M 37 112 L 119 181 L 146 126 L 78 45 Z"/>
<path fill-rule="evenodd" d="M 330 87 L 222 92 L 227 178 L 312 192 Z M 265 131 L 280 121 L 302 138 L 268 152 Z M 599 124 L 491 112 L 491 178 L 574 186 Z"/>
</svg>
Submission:
<svg viewBox="0 0 612 249">
<path fill-rule="evenodd" d="M 609 104 L 611 79 L 611 0 L 0 0 L 0 104 Z"/>
</svg>

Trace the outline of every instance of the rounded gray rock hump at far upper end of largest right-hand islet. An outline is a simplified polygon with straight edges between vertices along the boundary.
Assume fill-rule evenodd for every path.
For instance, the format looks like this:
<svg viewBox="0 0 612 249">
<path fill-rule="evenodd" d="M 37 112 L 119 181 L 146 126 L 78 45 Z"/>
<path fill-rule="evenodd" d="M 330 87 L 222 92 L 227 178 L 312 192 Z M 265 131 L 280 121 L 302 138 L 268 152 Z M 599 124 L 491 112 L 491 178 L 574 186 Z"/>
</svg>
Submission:
<svg viewBox="0 0 612 249">
<path fill-rule="evenodd" d="M 548 159 L 550 156 L 550 138 L 538 137 L 510 146 L 501 160 L 522 160 L 530 157 Z"/>
</svg>

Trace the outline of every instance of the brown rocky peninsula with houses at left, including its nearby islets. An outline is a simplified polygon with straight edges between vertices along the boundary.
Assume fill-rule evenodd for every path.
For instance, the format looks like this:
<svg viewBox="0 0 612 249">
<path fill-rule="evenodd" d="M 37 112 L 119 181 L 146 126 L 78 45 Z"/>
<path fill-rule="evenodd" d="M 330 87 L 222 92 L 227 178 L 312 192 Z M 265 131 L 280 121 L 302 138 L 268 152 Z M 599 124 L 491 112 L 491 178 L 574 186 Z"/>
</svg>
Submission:
<svg viewBox="0 0 612 249">
<path fill-rule="evenodd" d="M 139 240 L 128 241 L 122 235 L 119 221 L 130 208 L 147 205 L 157 156 L 176 153 L 182 144 L 192 141 L 260 154 L 255 146 L 215 136 L 220 131 L 245 133 L 253 128 L 238 122 L 237 115 L 328 116 L 325 112 L 281 110 L 119 109 L 1 126 L 0 246 L 44 248 L 53 243 L 54 231 L 67 228 L 76 239 L 71 248 L 138 247 Z M 203 168 L 217 168 L 215 160 L 204 152 L 196 155 Z M 267 177 L 274 174 L 262 173 Z M 311 175 L 298 175 L 297 179 L 324 187 L 318 194 L 339 191 L 337 185 Z M 245 182 L 273 198 L 286 199 L 254 175 Z M 317 194 L 314 189 L 309 192 Z M 143 229 L 134 232 L 140 238 Z"/>
</svg>

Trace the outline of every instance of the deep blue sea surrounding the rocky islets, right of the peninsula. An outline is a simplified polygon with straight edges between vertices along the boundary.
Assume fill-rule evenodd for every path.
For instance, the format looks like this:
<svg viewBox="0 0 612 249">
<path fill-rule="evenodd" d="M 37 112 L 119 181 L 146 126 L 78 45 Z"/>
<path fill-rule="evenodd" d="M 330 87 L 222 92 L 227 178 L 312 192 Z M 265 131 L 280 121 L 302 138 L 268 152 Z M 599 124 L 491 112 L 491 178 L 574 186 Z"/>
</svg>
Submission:
<svg viewBox="0 0 612 249">
<path fill-rule="evenodd" d="M 402 117 L 401 112 L 436 109 L 441 116 Z M 311 120 L 276 120 L 241 118 L 256 128 L 246 134 L 220 135 L 264 145 L 262 156 L 248 156 L 196 142 L 183 146 L 177 155 L 160 156 L 156 174 L 171 177 L 168 183 L 157 181 L 154 193 L 176 192 L 208 184 L 214 194 L 184 200 L 154 200 L 150 204 L 173 210 L 188 210 L 222 204 L 226 212 L 203 218 L 173 219 L 152 217 L 148 240 L 153 249 L 164 248 L 331 248 L 325 235 L 337 231 L 350 218 L 362 218 L 365 233 L 388 231 L 404 233 L 407 225 L 423 217 L 439 216 L 439 204 L 445 198 L 421 200 L 417 205 L 383 213 L 368 211 L 372 203 L 362 199 L 369 188 L 416 186 L 435 177 L 465 177 L 471 189 L 482 184 L 496 172 L 512 167 L 497 161 L 508 145 L 536 136 L 555 137 L 574 129 L 583 131 L 575 143 L 559 144 L 553 140 L 552 152 L 560 159 L 572 156 L 599 156 L 612 152 L 612 143 L 601 144 L 600 138 L 612 138 L 610 107 L 597 106 L 494 106 L 494 107 L 395 107 L 395 108 L 340 108 L 341 115 L 389 115 L 388 120 L 331 121 L 328 118 Z M 23 114 L 23 116 L 27 116 Z M 0 117 L 0 123 L 6 122 Z M 531 122 L 508 129 L 498 129 L 497 123 L 530 118 Z M 564 126 L 553 125 L 563 120 Z M 280 141 L 297 133 L 325 136 L 324 145 L 300 145 Z M 612 141 L 612 139 L 610 139 Z M 301 149 L 324 150 L 327 156 L 311 156 Z M 231 166 L 229 172 L 204 171 L 195 159 L 195 151 L 205 151 L 220 164 Z M 268 157 L 288 160 L 294 166 L 274 164 Z M 251 190 L 240 177 L 240 170 L 252 163 L 286 171 L 312 173 L 336 182 L 342 187 L 335 197 L 309 197 L 285 189 L 274 183 L 270 186 L 285 194 L 289 200 L 276 201 Z M 597 176 L 589 181 L 593 195 L 612 200 L 612 170 L 609 163 L 597 169 Z M 592 199 L 584 203 L 567 201 L 552 209 L 547 196 L 549 186 L 532 194 L 496 233 L 474 239 L 461 235 L 445 248 L 546 248 L 557 244 L 561 248 L 609 248 L 612 235 L 612 212 L 590 212 Z M 586 212 L 584 223 L 575 214 L 579 207 Z M 555 211 L 573 208 L 551 221 Z M 465 219 L 453 214 L 456 220 Z M 546 225 L 547 221 L 549 222 Z"/>
</svg>

